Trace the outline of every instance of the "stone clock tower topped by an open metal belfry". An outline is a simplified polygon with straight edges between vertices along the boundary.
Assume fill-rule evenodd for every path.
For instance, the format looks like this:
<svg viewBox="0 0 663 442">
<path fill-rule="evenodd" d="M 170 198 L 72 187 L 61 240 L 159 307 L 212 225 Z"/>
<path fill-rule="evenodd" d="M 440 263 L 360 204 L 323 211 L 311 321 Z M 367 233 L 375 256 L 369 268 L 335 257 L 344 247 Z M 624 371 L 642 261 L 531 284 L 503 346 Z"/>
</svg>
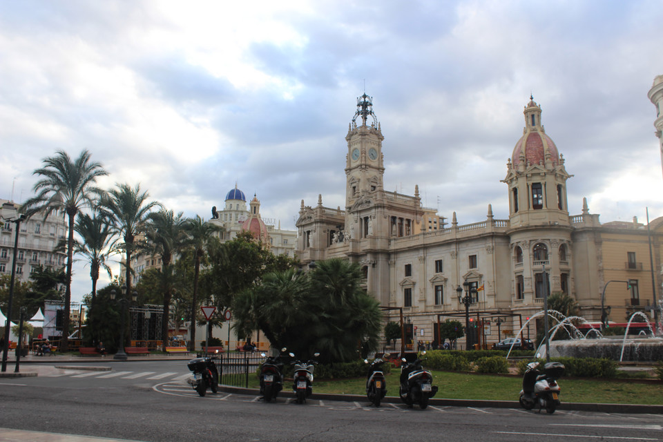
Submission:
<svg viewBox="0 0 663 442">
<path fill-rule="evenodd" d="M 357 122 L 358 117 L 361 118 L 361 124 Z M 372 118 L 370 126 L 367 124 L 369 117 Z M 345 140 L 347 141 L 345 206 L 349 208 L 361 195 L 369 195 L 383 189 L 384 137 L 373 113 L 372 97 L 366 94 L 358 97 L 357 111 L 349 125 Z"/>
</svg>

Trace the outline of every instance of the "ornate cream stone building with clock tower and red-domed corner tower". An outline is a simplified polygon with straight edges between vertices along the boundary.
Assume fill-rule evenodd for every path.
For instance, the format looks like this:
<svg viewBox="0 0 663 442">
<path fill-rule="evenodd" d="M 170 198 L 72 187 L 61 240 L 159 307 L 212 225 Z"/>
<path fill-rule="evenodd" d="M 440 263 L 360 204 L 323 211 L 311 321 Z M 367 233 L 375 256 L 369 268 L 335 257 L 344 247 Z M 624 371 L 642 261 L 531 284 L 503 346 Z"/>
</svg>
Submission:
<svg viewBox="0 0 663 442">
<path fill-rule="evenodd" d="M 588 320 L 600 319 L 604 291 L 617 323 L 637 309 L 651 314 L 655 287 L 661 287 L 663 219 L 651 223 L 652 271 L 644 259 L 647 229 L 637 220 L 601 224 L 586 200 L 581 214 L 569 215 L 566 182 L 573 175 L 532 97 L 523 115 L 523 135 L 501 180 L 508 186 L 509 218 L 495 219 L 488 204 L 482 222 L 460 225 L 453 212 L 446 224 L 422 206 L 418 186 L 414 196 L 385 191 L 381 124 L 372 98 L 359 97 L 345 137 L 345 208 L 323 206 L 322 195 L 315 206 L 302 200 L 296 256 L 304 265 L 334 257 L 360 263 L 366 289 L 390 307 L 385 319 L 397 321 L 402 309 L 412 324 L 410 340 L 420 342 L 436 340 L 438 320 L 465 320 L 458 296 L 459 290 L 465 294 L 464 282 L 478 291 L 470 307 L 481 335 L 475 342 L 488 346 L 498 340 L 497 318 L 499 337 L 519 329 L 526 334 L 526 318 L 541 311 L 544 291 L 573 296 Z M 628 280 L 632 287 L 608 287 L 611 280 Z M 535 323 L 531 327 L 534 338 Z"/>
</svg>

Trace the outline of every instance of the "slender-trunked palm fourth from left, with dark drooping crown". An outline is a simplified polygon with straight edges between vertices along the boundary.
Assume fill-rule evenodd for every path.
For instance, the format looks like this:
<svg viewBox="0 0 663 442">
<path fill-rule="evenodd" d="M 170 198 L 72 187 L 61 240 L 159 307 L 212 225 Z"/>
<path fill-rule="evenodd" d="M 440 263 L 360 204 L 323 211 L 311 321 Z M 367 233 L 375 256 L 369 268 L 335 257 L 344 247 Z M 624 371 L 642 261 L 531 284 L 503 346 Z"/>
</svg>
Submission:
<svg viewBox="0 0 663 442">
<path fill-rule="evenodd" d="M 184 233 L 183 213 L 175 215 L 173 211 L 161 209 L 148 216 L 146 224 L 145 242 L 142 251 L 149 255 L 160 256 L 162 268 L 160 270 L 164 293 L 164 320 L 162 321 L 161 338 L 166 351 L 168 340 L 168 318 L 170 314 L 171 298 L 173 296 L 173 254 L 178 253 L 186 239 Z"/>
</svg>

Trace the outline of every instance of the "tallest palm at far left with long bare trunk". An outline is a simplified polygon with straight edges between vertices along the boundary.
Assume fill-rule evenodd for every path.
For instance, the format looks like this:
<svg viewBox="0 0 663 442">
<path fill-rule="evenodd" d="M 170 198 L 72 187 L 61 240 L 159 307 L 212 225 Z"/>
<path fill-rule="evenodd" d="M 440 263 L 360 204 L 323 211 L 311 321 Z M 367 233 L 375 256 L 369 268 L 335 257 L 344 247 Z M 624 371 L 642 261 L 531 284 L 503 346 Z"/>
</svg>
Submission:
<svg viewBox="0 0 663 442">
<path fill-rule="evenodd" d="M 66 352 L 69 347 L 69 314 L 71 302 L 71 267 L 74 255 L 74 220 L 76 215 L 87 206 L 93 206 L 93 200 L 101 190 L 95 186 L 97 177 L 108 175 L 102 165 L 90 161 L 90 152 L 84 150 L 72 161 L 64 151 L 42 160 L 41 169 L 33 175 L 41 175 L 33 190 L 37 193 L 23 204 L 23 211 L 28 218 L 35 213 L 44 213 L 44 219 L 53 211 L 64 211 L 68 216 L 67 233 L 67 271 L 66 291 L 64 296 L 64 320 L 60 347 Z"/>
</svg>

